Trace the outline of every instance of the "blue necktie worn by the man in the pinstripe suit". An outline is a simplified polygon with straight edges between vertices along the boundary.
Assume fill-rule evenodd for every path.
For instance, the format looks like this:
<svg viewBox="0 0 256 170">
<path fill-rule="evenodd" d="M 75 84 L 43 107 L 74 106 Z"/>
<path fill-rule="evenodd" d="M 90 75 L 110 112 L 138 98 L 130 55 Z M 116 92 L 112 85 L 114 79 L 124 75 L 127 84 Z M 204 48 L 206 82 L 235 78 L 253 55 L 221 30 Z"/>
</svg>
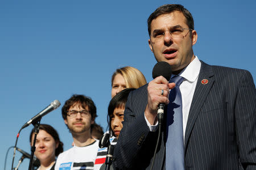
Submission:
<svg viewBox="0 0 256 170">
<path fill-rule="evenodd" d="M 182 100 L 180 84 L 182 76 L 174 76 L 170 83 L 176 83 L 170 91 L 166 124 L 166 169 L 184 169 L 184 142 L 182 121 Z"/>
</svg>

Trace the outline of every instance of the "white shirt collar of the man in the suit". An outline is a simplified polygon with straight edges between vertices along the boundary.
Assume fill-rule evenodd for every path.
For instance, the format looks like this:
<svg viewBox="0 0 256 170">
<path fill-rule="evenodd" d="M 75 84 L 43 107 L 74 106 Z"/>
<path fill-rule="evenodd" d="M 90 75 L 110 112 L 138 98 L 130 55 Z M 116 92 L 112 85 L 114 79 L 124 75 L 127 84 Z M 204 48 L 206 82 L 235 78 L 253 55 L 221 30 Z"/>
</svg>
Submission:
<svg viewBox="0 0 256 170">
<path fill-rule="evenodd" d="M 201 68 L 201 62 L 199 61 L 197 56 L 195 56 L 193 61 L 189 63 L 189 65 L 185 67 L 179 73 L 179 75 L 187 79 L 189 82 L 195 82 L 196 78 L 199 76 L 200 68 Z M 172 76 L 175 76 L 175 75 L 172 75 Z"/>
</svg>

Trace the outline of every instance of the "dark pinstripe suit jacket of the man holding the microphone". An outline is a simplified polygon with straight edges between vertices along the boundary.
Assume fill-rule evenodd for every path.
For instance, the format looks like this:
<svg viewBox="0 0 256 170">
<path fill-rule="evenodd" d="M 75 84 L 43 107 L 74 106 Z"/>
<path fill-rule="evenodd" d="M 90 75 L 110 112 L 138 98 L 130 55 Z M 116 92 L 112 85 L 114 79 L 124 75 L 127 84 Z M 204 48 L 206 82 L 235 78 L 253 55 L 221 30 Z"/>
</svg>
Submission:
<svg viewBox="0 0 256 170">
<path fill-rule="evenodd" d="M 256 90 L 246 70 L 202 62 L 185 130 L 186 169 L 256 169 Z M 207 84 L 201 80 L 208 79 Z M 156 143 L 144 118 L 147 85 L 130 93 L 114 150 L 117 169 L 149 169 Z M 164 132 L 154 169 L 165 169 Z M 174 146 L 175 147 L 175 146 Z"/>
</svg>

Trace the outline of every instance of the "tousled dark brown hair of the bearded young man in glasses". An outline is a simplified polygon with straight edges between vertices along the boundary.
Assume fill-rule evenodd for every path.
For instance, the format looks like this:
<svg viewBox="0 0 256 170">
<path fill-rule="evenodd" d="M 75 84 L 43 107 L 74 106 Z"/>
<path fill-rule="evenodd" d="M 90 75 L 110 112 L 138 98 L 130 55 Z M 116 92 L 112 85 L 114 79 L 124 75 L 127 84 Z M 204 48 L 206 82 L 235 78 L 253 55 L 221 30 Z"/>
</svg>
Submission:
<svg viewBox="0 0 256 170">
<path fill-rule="evenodd" d="M 61 109 L 61 114 L 64 120 L 67 120 L 67 113 L 70 107 L 72 107 L 75 104 L 79 104 L 80 107 L 86 108 L 86 106 L 89 109 L 90 115 L 92 116 L 92 120 L 95 120 L 97 117 L 96 114 L 96 106 L 93 103 L 92 99 L 88 96 L 84 95 L 73 95 L 70 99 L 65 101 L 64 106 Z"/>
</svg>

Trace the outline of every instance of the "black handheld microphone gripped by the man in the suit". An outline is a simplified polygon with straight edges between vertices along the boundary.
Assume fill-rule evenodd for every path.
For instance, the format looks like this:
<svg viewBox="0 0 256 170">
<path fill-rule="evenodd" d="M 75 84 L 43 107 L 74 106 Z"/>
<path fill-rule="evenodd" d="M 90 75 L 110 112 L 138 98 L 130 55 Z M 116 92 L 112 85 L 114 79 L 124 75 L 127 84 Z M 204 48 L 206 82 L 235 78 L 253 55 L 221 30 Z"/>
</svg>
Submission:
<svg viewBox="0 0 256 170">
<path fill-rule="evenodd" d="M 166 78 L 167 81 L 170 80 L 172 75 L 172 68 L 169 63 L 165 61 L 160 61 L 155 64 L 153 70 L 152 70 L 152 77 L 155 79 L 156 77 L 162 75 L 164 78 Z M 164 113 L 164 104 L 160 103 L 158 105 L 158 120 L 159 124 L 162 124 L 163 122 L 163 114 Z"/>
</svg>

